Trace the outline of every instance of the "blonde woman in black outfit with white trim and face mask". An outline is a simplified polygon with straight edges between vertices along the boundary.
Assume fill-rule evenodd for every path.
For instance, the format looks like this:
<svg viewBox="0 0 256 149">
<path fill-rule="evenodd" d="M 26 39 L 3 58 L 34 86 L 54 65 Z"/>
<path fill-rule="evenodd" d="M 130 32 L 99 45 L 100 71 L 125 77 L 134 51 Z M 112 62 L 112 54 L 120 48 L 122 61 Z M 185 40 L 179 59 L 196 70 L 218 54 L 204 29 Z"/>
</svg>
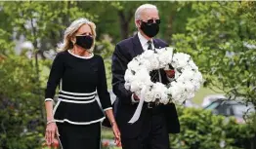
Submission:
<svg viewBox="0 0 256 149">
<path fill-rule="evenodd" d="M 64 43 L 59 45 L 62 52 L 54 59 L 45 92 L 48 145 L 57 136 L 63 149 L 100 149 L 103 110 L 112 125 L 116 143 L 120 143 L 107 92 L 104 60 L 93 54 L 95 28 L 88 19 L 76 19 L 64 32 Z M 53 109 L 58 86 L 58 102 Z M 95 99 L 96 93 L 103 110 Z"/>
</svg>

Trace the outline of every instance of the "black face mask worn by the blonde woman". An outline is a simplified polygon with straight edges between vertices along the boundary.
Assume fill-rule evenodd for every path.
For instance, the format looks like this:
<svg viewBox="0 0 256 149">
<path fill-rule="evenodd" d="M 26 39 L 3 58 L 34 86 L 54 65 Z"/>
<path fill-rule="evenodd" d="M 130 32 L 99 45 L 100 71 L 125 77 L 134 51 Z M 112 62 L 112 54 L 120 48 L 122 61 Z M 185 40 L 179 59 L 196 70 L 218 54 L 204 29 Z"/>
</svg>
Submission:
<svg viewBox="0 0 256 149">
<path fill-rule="evenodd" d="M 85 50 L 89 50 L 92 48 L 94 43 L 94 38 L 92 36 L 75 36 L 76 38 L 76 45 L 82 47 Z"/>
</svg>

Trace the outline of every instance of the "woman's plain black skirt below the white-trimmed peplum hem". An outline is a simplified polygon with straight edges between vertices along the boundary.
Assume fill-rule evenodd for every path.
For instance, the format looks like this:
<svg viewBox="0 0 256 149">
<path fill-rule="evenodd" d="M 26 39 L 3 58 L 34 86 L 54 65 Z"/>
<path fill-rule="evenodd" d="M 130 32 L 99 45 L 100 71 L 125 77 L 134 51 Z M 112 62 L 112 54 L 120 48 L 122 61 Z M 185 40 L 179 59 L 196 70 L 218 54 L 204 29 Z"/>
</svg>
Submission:
<svg viewBox="0 0 256 149">
<path fill-rule="evenodd" d="M 72 125 L 57 123 L 62 149 L 100 149 L 101 123 Z"/>
</svg>

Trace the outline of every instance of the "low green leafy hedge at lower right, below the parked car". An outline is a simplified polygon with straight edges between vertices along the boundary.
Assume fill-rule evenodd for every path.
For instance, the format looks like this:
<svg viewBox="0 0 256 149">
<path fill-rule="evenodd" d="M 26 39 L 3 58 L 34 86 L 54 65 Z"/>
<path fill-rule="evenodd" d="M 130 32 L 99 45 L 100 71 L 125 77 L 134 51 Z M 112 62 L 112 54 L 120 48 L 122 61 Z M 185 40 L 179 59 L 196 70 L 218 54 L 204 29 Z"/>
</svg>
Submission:
<svg viewBox="0 0 256 149">
<path fill-rule="evenodd" d="M 254 149 L 253 125 L 237 124 L 235 118 L 213 115 L 210 111 L 179 108 L 181 133 L 170 136 L 172 148 Z M 254 143 L 254 144 L 253 144 Z"/>
</svg>

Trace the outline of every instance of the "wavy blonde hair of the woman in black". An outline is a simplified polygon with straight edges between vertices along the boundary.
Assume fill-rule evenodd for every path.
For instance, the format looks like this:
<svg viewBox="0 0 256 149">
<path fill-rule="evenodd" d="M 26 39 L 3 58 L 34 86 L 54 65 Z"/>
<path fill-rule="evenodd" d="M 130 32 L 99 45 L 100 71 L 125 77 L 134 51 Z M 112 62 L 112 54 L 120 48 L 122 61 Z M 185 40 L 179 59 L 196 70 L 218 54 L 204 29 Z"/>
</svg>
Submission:
<svg viewBox="0 0 256 149">
<path fill-rule="evenodd" d="M 74 37 L 77 30 L 84 24 L 88 24 L 92 30 L 92 34 L 94 37 L 94 43 L 92 48 L 89 50 L 90 53 L 93 53 L 95 46 L 95 38 L 96 38 L 96 25 L 94 22 L 88 19 L 75 19 L 64 31 L 64 42 L 58 44 L 58 51 L 66 51 L 73 48 L 73 43 L 71 38 Z"/>
</svg>

